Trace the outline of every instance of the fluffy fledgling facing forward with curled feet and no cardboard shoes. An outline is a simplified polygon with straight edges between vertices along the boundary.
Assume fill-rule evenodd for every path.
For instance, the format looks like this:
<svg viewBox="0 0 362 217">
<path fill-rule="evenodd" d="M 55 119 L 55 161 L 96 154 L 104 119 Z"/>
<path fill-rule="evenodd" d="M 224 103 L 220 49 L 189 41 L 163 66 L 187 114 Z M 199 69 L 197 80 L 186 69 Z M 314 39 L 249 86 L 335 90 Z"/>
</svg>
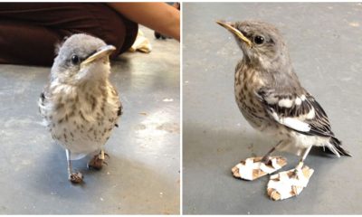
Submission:
<svg viewBox="0 0 362 217">
<path fill-rule="evenodd" d="M 65 38 L 38 100 L 43 124 L 65 149 L 73 184 L 82 183 L 83 175 L 72 170 L 72 160 L 93 155 L 89 168 L 107 164 L 104 145 L 122 114 L 119 93 L 110 83 L 110 54 L 115 50 L 86 33 Z"/>
</svg>

